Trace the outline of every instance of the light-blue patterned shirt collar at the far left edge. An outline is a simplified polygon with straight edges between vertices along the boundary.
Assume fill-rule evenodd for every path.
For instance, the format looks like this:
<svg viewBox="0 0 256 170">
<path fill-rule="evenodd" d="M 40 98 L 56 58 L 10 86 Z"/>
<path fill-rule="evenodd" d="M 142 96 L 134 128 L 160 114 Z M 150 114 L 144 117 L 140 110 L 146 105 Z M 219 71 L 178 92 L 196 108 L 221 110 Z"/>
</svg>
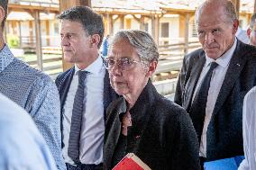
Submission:
<svg viewBox="0 0 256 170">
<path fill-rule="evenodd" d="M 14 55 L 5 44 L 4 48 L 0 50 L 0 72 L 4 71 L 5 67 L 7 67 L 14 60 Z"/>
</svg>

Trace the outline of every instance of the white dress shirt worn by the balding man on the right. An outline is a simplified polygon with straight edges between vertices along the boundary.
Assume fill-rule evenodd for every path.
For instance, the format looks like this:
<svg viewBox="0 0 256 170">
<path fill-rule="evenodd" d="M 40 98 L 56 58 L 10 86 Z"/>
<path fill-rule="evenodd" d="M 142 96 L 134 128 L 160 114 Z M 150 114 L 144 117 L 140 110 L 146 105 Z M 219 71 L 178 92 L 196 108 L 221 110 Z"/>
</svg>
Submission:
<svg viewBox="0 0 256 170">
<path fill-rule="evenodd" d="M 195 95 L 197 94 L 197 89 L 199 85 L 201 84 L 202 80 L 206 76 L 206 73 L 210 69 L 210 63 L 215 61 L 218 66 L 215 67 L 215 70 L 213 71 L 209 91 L 208 91 L 208 96 L 207 96 L 207 103 L 206 103 L 206 117 L 205 117 L 205 122 L 204 122 L 204 128 L 201 136 L 201 142 L 200 142 L 200 152 L 199 156 L 200 157 L 206 157 L 206 132 L 208 125 L 211 121 L 212 113 L 215 109 L 215 103 L 216 99 L 218 97 L 218 94 L 220 92 L 220 89 L 223 85 L 224 82 L 224 77 L 227 71 L 227 68 L 229 66 L 230 60 L 233 56 L 233 51 L 236 47 L 237 40 L 234 40 L 233 46 L 231 49 L 228 49 L 222 57 L 217 58 L 214 60 L 213 58 L 208 58 L 206 56 L 206 64 L 202 69 L 201 75 L 198 79 L 197 86 L 195 89 L 195 92 L 193 94 L 193 100 L 195 98 Z"/>
</svg>

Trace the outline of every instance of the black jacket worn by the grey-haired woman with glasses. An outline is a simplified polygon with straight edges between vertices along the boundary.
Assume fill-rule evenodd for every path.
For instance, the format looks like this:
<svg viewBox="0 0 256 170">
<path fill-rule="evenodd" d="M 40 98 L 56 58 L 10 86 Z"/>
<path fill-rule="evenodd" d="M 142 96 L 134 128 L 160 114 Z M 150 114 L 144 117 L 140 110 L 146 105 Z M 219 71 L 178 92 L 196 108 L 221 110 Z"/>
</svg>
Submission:
<svg viewBox="0 0 256 170">
<path fill-rule="evenodd" d="M 104 166 L 112 158 L 121 135 L 119 114 L 126 112 L 123 97 L 107 108 Z M 126 153 L 134 153 L 153 170 L 200 169 L 197 134 L 187 112 L 156 91 L 151 81 L 130 110 L 133 126 L 128 129 Z"/>
</svg>

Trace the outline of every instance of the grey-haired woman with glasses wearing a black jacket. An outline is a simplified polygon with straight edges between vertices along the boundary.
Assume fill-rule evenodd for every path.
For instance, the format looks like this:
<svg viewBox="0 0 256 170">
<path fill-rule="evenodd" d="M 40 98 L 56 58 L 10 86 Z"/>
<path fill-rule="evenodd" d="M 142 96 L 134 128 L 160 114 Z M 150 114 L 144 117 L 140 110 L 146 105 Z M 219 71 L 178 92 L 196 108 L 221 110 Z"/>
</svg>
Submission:
<svg viewBox="0 0 256 170">
<path fill-rule="evenodd" d="M 109 48 L 105 67 L 122 97 L 107 108 L 105 169 L 112 169 L 127 153 L 153 170 L 200 169 L 197 134 L 187 112 L 151 83 L 159 58 L 151 35 L 119 31 Z"/>
</svg>

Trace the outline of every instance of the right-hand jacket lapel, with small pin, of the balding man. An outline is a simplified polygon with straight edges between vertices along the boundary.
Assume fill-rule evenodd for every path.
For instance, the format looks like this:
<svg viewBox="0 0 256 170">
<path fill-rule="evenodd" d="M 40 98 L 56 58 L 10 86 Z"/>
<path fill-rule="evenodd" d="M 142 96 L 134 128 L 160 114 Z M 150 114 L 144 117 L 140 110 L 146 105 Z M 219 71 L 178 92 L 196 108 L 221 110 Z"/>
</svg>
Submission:
<svg viewBox="0 0 256 170">
<path fill-rule="evenodd" d="M 246 58 L 242 58 L 244 53 L 242 53 L 242 50 L 239 50 L 242 48 L 239 47 L 241 45 L 242 43 L 238 41 L 237 48 L 233 53 L 233 58 L 231 58 L 230 65 L 224 77 L 223 85 L 220 93 L 218 94 L 213 114 L 216 114 L 223 107 L 224 101 L 233 89 L 233 85 L 240 76 L 242 68 L 246 63 Z"/>
</svg>

